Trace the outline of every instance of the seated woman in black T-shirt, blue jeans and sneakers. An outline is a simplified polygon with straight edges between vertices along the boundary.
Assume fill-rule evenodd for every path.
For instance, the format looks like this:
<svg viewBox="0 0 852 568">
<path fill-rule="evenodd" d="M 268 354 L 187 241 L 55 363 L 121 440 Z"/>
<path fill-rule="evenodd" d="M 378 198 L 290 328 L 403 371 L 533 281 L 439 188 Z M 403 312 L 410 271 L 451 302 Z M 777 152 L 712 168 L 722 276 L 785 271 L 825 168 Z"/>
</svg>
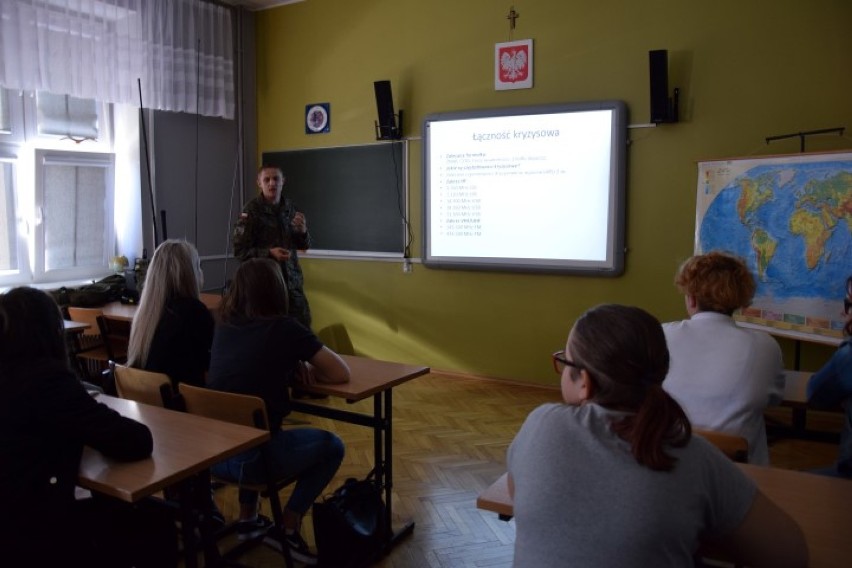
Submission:
<svg viewBox="0 0 852 568">
<path fill-rule="evenodd" d="M 290 413 L 288 386 L 306 363 L 308 374 L 327 383 L 349 380 L 346 362 L 304 325 L 287 315 L 287 286 L 281 268 L 271 259 L 249 259 L 234 275 L 221 306 L 216 328 L 208 387 L 258 396 L 266 403 L 276 479 L 296 477 L 284 507 L 284 535 L 295 560 L 316 564 L 300 535 L 302 517 L 334 477 L 343 460 L 343 442 L 316 428 L 281 429 Z M 259 450 L 250 450 L 213 467 L 216 475 L 261 483 Z M 257 513 L 258 495 L 240 490 L 238 536 L 251 538 L 270 528 L 270 519 Z M 277 542 L 277 541 L 270 541 Z"/>
</svg>

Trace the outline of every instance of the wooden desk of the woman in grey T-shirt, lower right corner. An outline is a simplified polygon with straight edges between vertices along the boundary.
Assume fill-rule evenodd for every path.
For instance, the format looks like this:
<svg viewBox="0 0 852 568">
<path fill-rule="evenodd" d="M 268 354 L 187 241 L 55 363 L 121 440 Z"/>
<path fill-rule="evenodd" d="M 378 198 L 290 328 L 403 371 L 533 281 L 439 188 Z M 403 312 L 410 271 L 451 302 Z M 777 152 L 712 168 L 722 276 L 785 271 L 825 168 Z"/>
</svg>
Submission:
<svg viewBox="0 0 852 568">
<path fill-rule="evenodd" d="M 810 568 L 846 568 L 852 559 L 852 480 L 812 473 L 737 464 L 779 507 L 802 527 Z M 507 474 L 479 494 L 479 509 L 508 520 L 513 514 Z"/>
</svg>

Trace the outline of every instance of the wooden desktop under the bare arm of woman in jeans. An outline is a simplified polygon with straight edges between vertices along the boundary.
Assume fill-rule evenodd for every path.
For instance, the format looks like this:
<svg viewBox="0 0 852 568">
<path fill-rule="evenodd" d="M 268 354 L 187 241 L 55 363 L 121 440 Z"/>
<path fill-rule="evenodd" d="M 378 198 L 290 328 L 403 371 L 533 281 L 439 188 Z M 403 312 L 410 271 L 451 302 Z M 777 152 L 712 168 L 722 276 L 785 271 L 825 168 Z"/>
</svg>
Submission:
<svg viewBox="0 0 852 568">
<path fill-rule="evenodd" d="M 429 372 L 429 367 L 341 355 L 349 365 L 348 383 L 305 385 L 304 390 L 355 401 L 391 389 Z"/>
</svg>

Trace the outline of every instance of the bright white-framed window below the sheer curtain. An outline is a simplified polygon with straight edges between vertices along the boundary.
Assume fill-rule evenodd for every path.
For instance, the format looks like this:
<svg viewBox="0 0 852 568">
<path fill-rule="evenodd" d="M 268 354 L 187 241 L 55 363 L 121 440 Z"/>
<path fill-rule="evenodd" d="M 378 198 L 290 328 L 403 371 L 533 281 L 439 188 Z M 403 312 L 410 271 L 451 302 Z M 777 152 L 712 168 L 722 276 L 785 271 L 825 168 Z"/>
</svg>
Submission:
<svg viewBox="0 0 852 568">
<path fill-rule="evenodd" d="M 111 107 L 0 89 L 0 284 L 100 278 L 114 254 Z"/>
</svg>

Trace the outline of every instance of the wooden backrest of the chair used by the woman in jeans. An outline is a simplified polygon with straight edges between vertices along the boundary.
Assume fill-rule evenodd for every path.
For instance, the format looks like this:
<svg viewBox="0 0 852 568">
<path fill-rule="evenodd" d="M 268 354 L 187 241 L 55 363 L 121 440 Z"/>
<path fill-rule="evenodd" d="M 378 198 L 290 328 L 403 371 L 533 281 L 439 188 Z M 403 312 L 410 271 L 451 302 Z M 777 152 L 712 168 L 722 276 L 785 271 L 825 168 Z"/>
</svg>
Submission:
<svg viewBox="0 0 852 568">
<path fill-rule="evenodd" d="M 268 429 L 266 404 L 260 397 L 217 391 L 186 383 L 180 383 L 178 391 L 186 411 L 190 414 L 252 428 Z"/>
</svg>

